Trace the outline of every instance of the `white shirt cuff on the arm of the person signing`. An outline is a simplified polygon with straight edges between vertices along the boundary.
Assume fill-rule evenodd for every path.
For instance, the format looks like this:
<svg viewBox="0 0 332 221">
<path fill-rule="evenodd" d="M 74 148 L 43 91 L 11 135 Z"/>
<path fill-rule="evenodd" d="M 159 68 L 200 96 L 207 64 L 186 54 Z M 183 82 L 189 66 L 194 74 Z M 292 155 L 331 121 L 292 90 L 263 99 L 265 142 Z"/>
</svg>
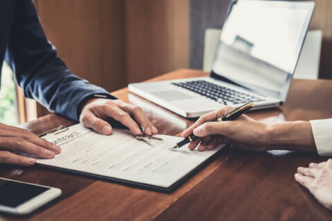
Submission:
<svg viewBox="0 0 332 221">
<path fill-rule="evenodd" d="M 311 120 L 313 137 L 320 156 L 332 156 L 332 118 Z"/>
</svg>

